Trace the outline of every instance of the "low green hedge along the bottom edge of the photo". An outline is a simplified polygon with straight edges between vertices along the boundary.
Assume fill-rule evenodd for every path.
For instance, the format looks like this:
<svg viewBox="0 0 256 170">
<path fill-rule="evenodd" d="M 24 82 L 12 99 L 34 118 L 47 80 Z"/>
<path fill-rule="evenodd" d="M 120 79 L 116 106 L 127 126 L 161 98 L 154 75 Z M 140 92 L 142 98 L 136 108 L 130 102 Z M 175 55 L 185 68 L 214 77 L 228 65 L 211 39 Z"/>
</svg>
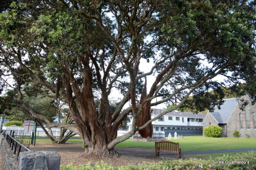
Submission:
<svg viewBox="0 0 256 170">
<path fill-rule="evenodd" d="M 112 166 L 104 163 L 103 161 L 95 163 L 91 166 L 90 162 L 85 165 L 74 166 L 72 163 L 68 165 L 61 165 L 61 170 L 222 170 L 222 169 L 256 169 L 256 152 L 250 151 L 248 153 L 236 155 L 223 155 L 222 157 L 205 159 L 179 159 L 179 160 L 166 160 L 158 163 L 143 162 L 138 165 L 127 166 Z M 223 163 L 217 163 L 223 161 Z M 231 162 L 233 161 L 233 162 Z M 236 161 L 236 162 L 235 162 Z M 239 162 L 238 162 L 239 161 Z"/>
</svg>

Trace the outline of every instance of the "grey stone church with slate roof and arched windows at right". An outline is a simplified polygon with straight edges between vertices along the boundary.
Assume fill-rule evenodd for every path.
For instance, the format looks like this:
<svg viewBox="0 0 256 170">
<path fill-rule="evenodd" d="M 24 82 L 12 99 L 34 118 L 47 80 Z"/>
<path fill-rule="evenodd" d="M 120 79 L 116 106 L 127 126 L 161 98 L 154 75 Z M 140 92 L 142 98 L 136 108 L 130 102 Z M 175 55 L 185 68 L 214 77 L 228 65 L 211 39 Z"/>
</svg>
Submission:
<svg viewBox="0 0 256 170">
<path fill-rule="evenodd" d="M 248 105 L 241 110 L 242 99 L 248 101 Z M 221 108 L 215 106 L 214 112 L 207 112 L 203 122 L 203 128 L 210 125 L 222 128 L 222 137 L 233 137 L 234 130 L 240 131 L 240 137 L 256 138 L 256 104 L 252 105 L 249 96 L 240 99 L 224 99 Z"/>
</svg>

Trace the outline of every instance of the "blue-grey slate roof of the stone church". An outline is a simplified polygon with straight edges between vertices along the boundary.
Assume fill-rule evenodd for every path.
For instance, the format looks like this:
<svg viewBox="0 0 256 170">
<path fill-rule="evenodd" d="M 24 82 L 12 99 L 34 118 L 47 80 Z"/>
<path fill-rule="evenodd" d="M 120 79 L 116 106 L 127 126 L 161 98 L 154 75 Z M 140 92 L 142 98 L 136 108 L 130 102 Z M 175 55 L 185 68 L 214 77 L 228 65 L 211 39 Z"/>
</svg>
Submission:
<svg viewBox="0 0 256 170">
<path fill-rule="evenodd" d="M 234 111 L 238 104 L 237 98 L 223 99 L 225 102 L 221 105 L 221 109 L 217 106 L 214 108 L 214 112 L 211 112 L 212 116 L 217 120 L 218 123 L 227 123 L 227 119 Z"/>
</svg>

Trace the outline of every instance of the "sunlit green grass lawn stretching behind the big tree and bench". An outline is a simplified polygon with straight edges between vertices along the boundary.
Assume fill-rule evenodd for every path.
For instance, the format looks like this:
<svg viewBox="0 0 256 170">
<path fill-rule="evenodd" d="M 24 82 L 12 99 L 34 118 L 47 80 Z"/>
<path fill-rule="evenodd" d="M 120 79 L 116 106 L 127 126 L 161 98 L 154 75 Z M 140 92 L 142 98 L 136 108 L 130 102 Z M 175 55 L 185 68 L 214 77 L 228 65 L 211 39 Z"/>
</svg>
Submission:
<svg viewBox="0 0 256 170">
<path fill-rule="evenodd" d="M 190 136 L 183 139 L 172 139 L 168 141 L 179 142 L 182 151 L 205 151 L 256 148 L 256 138 L 208 138 L 202 136 Z M 50 142 L 50 139 L 36 139 L 36 142 Z M 82 139 L 69 139 L 68 142 L 82 142 Z M 154 151 L 155 142 L 137 142 L 128 139 L 118 143 L 117 148 L 125 147 L 147 147 L 147 151 Z"/>
</svg>

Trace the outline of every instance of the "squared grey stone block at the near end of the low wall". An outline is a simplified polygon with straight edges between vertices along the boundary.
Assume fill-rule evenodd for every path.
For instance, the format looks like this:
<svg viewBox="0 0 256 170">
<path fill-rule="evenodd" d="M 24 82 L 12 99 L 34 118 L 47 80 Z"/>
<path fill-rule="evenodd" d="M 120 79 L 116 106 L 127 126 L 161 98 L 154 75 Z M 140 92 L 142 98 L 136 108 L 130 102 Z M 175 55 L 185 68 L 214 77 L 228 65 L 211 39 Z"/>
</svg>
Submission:
<svg viewBox="0 0 256 170">
<path fill-rule="evenodd" d="M 60 155 L 55 151 L 22 152 L 18 159 L 18 170 L 59 170 Z"/>
</svg>

